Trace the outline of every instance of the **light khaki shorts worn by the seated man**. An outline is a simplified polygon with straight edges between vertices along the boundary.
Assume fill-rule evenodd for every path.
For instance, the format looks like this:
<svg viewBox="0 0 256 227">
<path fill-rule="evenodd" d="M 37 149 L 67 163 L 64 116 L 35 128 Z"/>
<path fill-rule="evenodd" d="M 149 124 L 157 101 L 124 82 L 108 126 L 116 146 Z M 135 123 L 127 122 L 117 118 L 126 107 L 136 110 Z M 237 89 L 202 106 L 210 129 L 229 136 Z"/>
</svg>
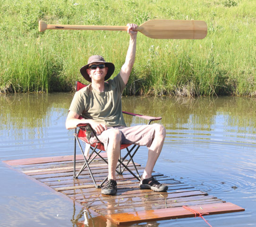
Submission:
<svg viewBox="0 0 256 227">
<path fill-rule="evenodd" d="M 104 144 L 105 150 L 108 147 L 109 136 L 111 136 L 111 130 L 119 130 L 121 132 L 121 144 L 136 144 L 140 146 L 150 147 L 154 138 L 155 127 L 158 124 L 150 125 L 136 125 L 132 127 L 108 127 L 102 134 L 97 134 L 98 139 Z M 97 142 L 95 137 L 90 138 L 90 143 Z"/>
</svg>

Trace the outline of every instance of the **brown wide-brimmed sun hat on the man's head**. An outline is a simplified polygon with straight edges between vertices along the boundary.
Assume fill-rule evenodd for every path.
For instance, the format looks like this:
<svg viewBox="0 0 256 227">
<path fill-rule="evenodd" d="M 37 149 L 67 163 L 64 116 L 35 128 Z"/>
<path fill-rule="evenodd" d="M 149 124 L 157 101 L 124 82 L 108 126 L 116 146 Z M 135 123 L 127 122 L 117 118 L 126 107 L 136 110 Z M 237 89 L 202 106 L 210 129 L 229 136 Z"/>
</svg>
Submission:
<svg viewBox="0 0 256 227">
<path fill-rule="evenodd" d="M 108 73 L 105 76 L 105 81 L 108 80 L 111 75 L 114 73 L 115 71 L 115 65 L 111 62 L 106 62 L 104 60 L 104 58 L 100 55 L 93 55 L 91 57 L 89 57 L 88 59 L 88 63 L 87 65 L 84 65 L 81 69 L 80 69 L 80 73 L 82 74 L 82 76 L 85 78 L 86 81 L 92 82 L 92 79 L 90 78 L 90 76 L 88 75 L 86 69 L 88 69 L 89 65 L 92 63 L 104 63 L 106 65 L 106 67 L 108 67 Z"/>
</svg>

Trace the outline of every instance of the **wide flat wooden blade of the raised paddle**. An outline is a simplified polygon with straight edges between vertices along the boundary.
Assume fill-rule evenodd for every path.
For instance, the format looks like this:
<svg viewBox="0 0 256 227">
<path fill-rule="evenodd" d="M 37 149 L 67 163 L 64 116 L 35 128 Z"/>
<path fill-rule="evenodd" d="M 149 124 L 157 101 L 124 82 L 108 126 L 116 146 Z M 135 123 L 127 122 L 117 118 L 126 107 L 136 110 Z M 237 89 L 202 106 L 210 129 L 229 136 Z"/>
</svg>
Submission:
<svg viewBox="0 0 256 227">
<path fill-rule="evenodd" d="M 207 24 L 197 20 L 149 20 L 137 31 L 153 39 L 204 39 Z"/>
</svg>

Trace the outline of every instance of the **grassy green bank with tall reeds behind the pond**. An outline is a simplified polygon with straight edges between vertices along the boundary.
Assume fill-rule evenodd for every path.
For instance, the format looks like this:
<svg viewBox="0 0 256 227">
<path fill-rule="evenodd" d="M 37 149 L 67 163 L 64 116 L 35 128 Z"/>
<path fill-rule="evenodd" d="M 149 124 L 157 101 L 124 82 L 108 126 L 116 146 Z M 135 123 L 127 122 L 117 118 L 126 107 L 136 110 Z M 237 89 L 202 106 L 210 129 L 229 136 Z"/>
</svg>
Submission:
<svg viewBox="0 0 256 227">
<path fill-rule="evenodd" d="M 69 91 L 89 56 L 118 73 L 127 32 L 38 32 L 48 24 L 126 25 L 149 19 L 204 20 L 204 40 L 154 40 L 139 33 L 125 94 L 256 95 L 255 0 L 0 1 L 0 92 Z"/>
</svg>

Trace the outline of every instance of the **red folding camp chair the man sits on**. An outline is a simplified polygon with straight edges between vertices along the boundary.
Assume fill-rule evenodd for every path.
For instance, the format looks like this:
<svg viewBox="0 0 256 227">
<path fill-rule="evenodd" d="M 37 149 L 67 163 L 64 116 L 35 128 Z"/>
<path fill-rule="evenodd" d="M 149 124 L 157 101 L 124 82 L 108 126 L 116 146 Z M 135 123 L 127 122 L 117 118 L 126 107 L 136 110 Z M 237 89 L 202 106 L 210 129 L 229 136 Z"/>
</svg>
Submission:
<svg viewBox="0 0 256 227">
<path fill-rule="evenodd" d="M 76 81 L 76 91 L 84 88 L 86 85 Z M 150 117 L 150 116 L 144 116 L 141 114 L 132 114 L 132 113 L 128 113 L 123 111 L 123 114 L 128 114 L 131 116 L 136 116 L 136 117 L 140 117 L 143 118 L 145 120 L 148 120 L 148 124 L 150 124 L 152 121 L 156 121 L 156 120 L 161 120 L 162 117 Z M 81 117 L 82 118 L 82 117 Z M 79 129 L 77 132 L 77 128 Z M 90 124 L 78 124 L 77 128 L 75 129 L 75 148 L 74 148 L 74 178 L 78 178 L 78 176 L 80 175 L 80 173 L 85 170 L 85 168 L 87 167 L 87 169 L 89 170 L 89 173 L 91 175 L 91 178 L 94 181 L 94 185 L 96 188 L 101 188 L 101 186 L 104 184 L 104 182 L 108 179 L 108 176 L 101 182 L 101 184 L 97 184 L 95 179 L 94 179 L 94 174 L 90 168 L 90 163 L 93 162 L 93 160 L 95 159 L 95 157 L 99 157 L 103 160 L 103 162 L 105 162 L 106 164 L 108 164 L 108 161 L 103 157 L 102 154 L 100 154 L 102 151 L 105 151 L 103 143 L 100 142 L 98 140 L 98 142 L 94 143 L 94 144 L 90 144 L 88 138 L 86 137 L 86 130 L 91 131 L 94 136 L 97 138 L 94 130 L 91 128 Z M 98 139 L 98 138 L 97 138 Z M 85 143 L 85 148 L 82 147 L 82 143 Z M 84 164 L 82 166 L 82 168 L 78 171 L 78 173 L 76 174 L 76 149 L 77 149 L 77 144 L 83 154 L 84 157 Z M 131 146 L 130 149 L 128 149 Z M 116 172 L 118 174 L 122 174 L 124 170 L 128 170 L 135 178 L 137 178 L 138 181 L 140 181 L 139 178 L 139 172 L 137 170 L 136 164 L 133 161 L 133 157 L 134 155 L 137 153 L 137 150 L 139 149 L 140 146 L 138 145 L 134 145 L 134 144 L 121 144 L 120 147 L 120 156 L 119 156 L 119 160 L 118 160 L 118 165 L 117 165 L 117 169 Z M 125 149 L 126 150 L 126 154 L 124 156 L 121 156 L 121 150 Z M 90 152 L 91 150 L 91 152 Z M 128 160 L 126 159 L 128 157 Z M 136 173 L 134 173 L 130 167 L 128 167 L 128 164 L 132 162 L 132 166 L 134 167 L 134 170 Z M 122 167 L 121 167 L 122 166 Z"/>
</svg>

